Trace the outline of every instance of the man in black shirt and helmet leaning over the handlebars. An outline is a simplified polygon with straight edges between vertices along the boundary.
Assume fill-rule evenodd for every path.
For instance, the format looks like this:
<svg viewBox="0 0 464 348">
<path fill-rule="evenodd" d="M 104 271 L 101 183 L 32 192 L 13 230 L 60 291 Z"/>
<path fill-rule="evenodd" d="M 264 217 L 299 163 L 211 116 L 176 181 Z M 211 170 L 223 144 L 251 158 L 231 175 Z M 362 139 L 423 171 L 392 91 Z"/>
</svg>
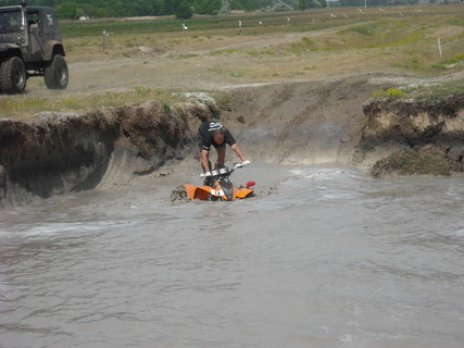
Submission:
<svg viewBox="0 0 464 348">
<path fill-rule="evenodd" d="M 235 151 L 242 165 L 250 164 L 250 161 L 243 156 L 230 132 L 227 130 L 221 122 L 203 122 L 198 129 L 198 136 L 200 146 L 200 163 L 205 175 L 204 185 L 209 185 L 211 179 L 211 146 L 214 146 L 217 151 L 217 167 L 224 166 L 226 159 L 226 144 L 228 144 Z"/>
</svg>

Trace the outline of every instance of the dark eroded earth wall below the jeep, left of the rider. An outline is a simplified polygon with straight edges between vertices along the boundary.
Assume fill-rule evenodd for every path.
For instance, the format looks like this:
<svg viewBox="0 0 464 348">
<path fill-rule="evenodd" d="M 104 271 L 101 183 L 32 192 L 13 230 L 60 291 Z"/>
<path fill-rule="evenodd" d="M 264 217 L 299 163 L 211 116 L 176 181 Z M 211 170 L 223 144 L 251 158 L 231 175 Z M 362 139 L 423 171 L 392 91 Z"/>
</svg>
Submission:
<svg viewBox="0 0 464 348">
<path fill-rule="evenodd" d="M 212 107 L 156 102 L 85 115 L 53 113 L 32 122 L 0 121 L 0 208 L 95 188 L 114 156 L 149 173 L 181 153 Z"/>
</svg>

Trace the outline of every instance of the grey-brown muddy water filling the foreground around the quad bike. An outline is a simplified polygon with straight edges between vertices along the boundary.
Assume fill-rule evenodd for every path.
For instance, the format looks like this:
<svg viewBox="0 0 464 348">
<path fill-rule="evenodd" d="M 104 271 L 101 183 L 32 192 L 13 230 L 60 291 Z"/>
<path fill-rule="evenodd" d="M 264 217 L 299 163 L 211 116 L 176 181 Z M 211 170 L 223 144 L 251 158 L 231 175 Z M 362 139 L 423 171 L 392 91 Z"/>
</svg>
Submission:
<svg viewBox="0 0 464 348">
<path fill-rule="evenodd" d="M 254 165 L 172 204 L 186 177 L 0 212 L 0 347 L 462 347 L 463 177 Z"/>
</svg>

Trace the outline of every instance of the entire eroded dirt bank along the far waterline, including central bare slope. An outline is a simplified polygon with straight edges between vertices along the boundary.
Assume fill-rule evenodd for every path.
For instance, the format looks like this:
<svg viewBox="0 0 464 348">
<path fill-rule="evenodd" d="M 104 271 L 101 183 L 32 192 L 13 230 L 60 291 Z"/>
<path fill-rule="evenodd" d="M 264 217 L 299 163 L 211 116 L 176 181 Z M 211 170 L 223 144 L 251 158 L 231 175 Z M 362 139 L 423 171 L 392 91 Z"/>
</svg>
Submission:
<svg viewBox="0 0 464 348">
<path fill-rule="evenodd" d="M 218 117 L 252 161 L 371 166 L 400 148 L 463 170 L 464 94 L 439 101 L 371 100 L 369 75 L 229 90 L 227 100 L 155 101 L 85 115 L 0 121 L 0 206 L 111 185 L 197 154 L 201 121 Z M 118 170 L 116 170 L 118 169 Z"/>
</svg>

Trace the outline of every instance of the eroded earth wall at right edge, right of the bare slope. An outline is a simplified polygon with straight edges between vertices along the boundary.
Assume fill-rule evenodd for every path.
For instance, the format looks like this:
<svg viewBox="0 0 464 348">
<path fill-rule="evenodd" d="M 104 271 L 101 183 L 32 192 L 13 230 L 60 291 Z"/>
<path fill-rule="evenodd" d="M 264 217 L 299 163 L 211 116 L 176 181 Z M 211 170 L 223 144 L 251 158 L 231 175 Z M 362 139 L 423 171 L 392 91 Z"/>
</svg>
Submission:
<svg viewBox="0 0 464 348">
<path fill-rule="evenodd" d="M 359 162 L 373 164 L 396 150 L 413 149 L 443 157 L 452 171 L 463 171 L 464 94 L 439 100 L 376 99 L 363 110 Z"/>
</svg>

